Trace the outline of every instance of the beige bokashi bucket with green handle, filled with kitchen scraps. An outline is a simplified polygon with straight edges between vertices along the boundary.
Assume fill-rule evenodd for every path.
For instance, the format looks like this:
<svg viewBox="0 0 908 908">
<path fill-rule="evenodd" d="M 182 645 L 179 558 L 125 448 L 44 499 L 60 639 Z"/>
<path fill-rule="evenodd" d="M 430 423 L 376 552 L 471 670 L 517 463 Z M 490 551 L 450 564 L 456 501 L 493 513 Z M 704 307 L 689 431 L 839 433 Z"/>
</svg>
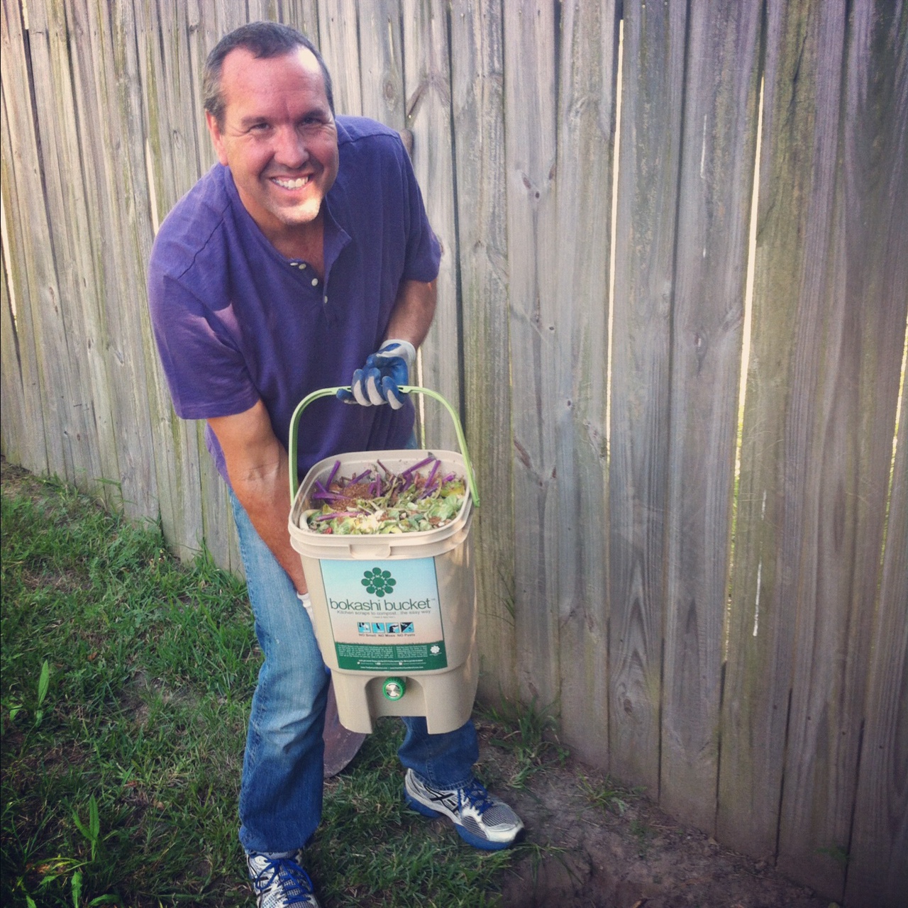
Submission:
<svg viewBox="0 0 908 908">
<path fill-rule="evenodd" d="M 341 454 L 320 460 L 297 489 L 301 413 L 337 390 L 301 400 L 288 452 L 291 545 L 300 553 L 341 725 L 370 733 L 378 716 L 425 716 L 429 734 L 453 731 L 469 719 L 479 680 L 469 536 L 479 497 L 463 429 L 440 394 L 402 386 L 446 407 L 460 453 Z M 346 503 L 363 487 L 382 493 L 380 504 L 354 517 Z M 384 508 L 390 501 L 395 507 Z"/>
</svg>

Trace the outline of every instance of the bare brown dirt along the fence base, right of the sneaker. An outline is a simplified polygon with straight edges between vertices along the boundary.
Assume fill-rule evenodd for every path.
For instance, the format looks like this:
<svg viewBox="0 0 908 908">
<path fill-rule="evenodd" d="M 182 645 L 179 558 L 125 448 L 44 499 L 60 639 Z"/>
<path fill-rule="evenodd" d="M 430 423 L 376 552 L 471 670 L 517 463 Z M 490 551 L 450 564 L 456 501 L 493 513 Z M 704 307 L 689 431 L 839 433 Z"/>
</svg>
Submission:
<svg viewBox="0 0 908 908">
<path fill-rule="evenodd" d="M 530 776 L 526 788 L 500 783 L 514 758 L 489 744 L 478 723 L 480 771 L 527 827 L 522 856 L 504 883 L 502 908 L 828 908 L 765 861 L 722 847 L 676 823 L 643 795 L 609 790 L 601 773 L 568 757 Z M 617 804 L 616 799 L 621 802 Z"/>
</svg>

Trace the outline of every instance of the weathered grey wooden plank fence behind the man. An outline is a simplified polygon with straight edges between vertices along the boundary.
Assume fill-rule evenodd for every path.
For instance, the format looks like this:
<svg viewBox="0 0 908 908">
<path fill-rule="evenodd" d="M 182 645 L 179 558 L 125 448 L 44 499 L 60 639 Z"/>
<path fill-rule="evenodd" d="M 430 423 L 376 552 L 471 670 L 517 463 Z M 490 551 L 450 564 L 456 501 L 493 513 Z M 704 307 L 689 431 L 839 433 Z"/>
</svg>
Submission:
<svg viewBox="0 0 908 908">
<path fill-rule="evenodd" d="M 213 160 L 203 58 L 255 18 L 311 35 L 341 112 L 415 133 L 482 696 L 551 705 L 577 756 L 831 898 L 904 906 L 908 4 L 3 0 L 5 455 L 229 568 L 144 269 Z"/>
</svg>

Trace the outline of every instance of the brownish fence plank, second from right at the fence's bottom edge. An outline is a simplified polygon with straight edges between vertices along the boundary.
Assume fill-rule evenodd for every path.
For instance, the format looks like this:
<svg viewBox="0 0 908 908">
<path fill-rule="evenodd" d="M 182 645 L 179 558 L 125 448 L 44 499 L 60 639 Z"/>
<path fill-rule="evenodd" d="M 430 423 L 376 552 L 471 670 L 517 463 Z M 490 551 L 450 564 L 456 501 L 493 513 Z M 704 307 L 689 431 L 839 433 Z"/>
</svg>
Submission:
<svg viewBox="0 0 908 908">
<path fill-rule="evenodd" d="M 813 398 L 794 396 L 804 407 L 804 460 L 792 465 L 803 477 L 804 531 L 786 553 L 799 615 L 778 863 L 832 898 L 853 823 L 908 309 L 908 271 L 895 261 L 903 250 L 889 247 L 908 223 L 908 163 L 891 161 L 882 184 L 874 165 L 906 147 L 904 118 L 893 116 L 908 110 L 903 75 L 893 88 L 905 28 L 899 41 L 893 12 L 870 0 L 822 5 L 817 178 L 796 326 L 795 383 Z"/>
</svg>

